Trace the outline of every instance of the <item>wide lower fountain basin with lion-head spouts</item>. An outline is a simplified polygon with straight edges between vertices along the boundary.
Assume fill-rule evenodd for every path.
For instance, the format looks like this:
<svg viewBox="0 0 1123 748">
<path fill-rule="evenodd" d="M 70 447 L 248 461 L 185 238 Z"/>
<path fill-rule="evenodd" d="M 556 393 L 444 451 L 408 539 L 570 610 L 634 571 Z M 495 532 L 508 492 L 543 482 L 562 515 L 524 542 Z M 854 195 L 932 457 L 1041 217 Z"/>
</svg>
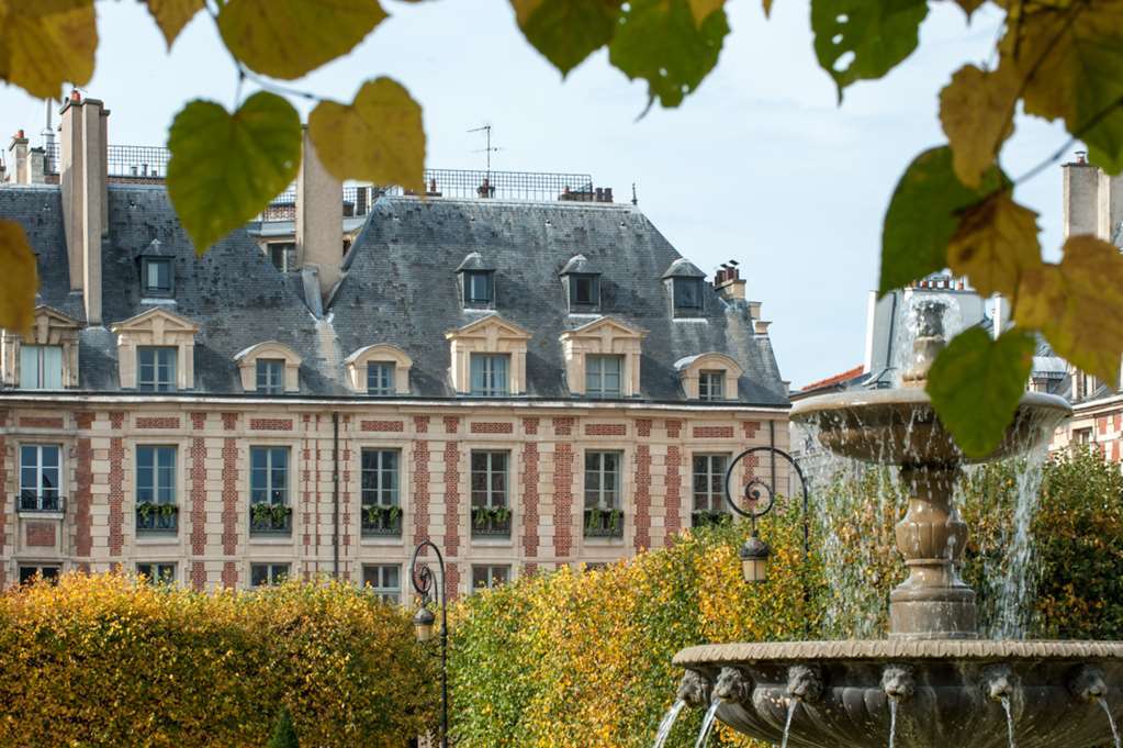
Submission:
<svg viewBox="0 0 1123 748">
<path fill-rule="evenodd" d="M 775 745 L 798 682 L 793 667 L 813 673 L 813 687 L 796 686 L 792 748 L 888 745 L 887 693 L 897 701 L 896 748 L 1006 748 L 1002 696 L 1019 748 L 1104 746 L 1112 731 L 1101 699 L 1116 720 L 1123 715 L 1123 691 L 1114 685 L 1123 683 L 1123 642 L 729 644 L 691 647 L 674 662 L 715 684 L 722 722 Z"/>
</svg>

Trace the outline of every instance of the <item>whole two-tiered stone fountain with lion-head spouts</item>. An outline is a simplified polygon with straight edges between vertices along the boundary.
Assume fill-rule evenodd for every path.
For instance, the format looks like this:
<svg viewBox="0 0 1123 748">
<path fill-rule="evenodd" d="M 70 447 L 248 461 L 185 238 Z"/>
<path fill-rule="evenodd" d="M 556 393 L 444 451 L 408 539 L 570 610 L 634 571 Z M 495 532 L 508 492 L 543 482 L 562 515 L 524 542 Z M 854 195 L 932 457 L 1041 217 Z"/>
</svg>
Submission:
<svg viewBox="0 0 1123 748">
<path fill-rule="evenodd" d="M 901 471 L 910 499 L 896 540 L 909 577 L 889 598 L 888 638 L 691 647 L 675 657 L 686 668 L 681 701 L 794 748 L 1111 744 L 1123 711 L 1123 642 L 978 638 L 975 592 L 958 572 L 967 526 L 951 502 L 967 460 L 924 392 L 946 345 L 943 311 L 917 309 L 900 389 L 824 395 L 792 411 L 831 451 Z M 1069 414 L 1060 398 L 1025 394 L 986 459 L 1041 445 Z"/>
</svg>

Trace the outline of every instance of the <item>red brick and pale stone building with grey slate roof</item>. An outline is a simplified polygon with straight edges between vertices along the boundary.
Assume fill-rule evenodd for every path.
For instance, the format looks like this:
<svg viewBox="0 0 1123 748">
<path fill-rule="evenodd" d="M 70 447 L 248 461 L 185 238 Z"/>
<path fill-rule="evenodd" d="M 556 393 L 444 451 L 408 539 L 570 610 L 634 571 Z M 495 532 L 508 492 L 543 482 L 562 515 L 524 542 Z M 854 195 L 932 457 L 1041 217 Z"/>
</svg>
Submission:
<svg viewBox="0 0 1123 748">
<path fill-rule="evenodd" d="M 745 281 L 706 282 L 611 193 L 368 192 L 356 226 L 305 149 L 291 226 L 197 258 L 162 170 L 119 168 L 106 125 L 72 99 L 46 165 L 17 138 L 0 185 L 42 280 L 31 331 L 0 337 L 2 584 L 400 596 L 429 538 L 463 593 L 664 546 L 722 508 L 733 454 L 787 446 Z M 286 230 L 279 267 L 261 237 Z"/>
</svg>

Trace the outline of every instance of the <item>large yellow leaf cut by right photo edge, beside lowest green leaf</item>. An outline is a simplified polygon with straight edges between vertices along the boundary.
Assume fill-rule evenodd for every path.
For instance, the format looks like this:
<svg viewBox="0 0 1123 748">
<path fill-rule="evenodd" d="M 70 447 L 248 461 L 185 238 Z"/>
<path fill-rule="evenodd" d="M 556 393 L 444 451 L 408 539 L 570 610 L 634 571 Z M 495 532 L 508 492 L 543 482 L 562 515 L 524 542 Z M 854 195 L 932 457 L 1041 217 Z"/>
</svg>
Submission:
<svg viewBox="0 0 1123 748">
<path fill-rule="evenodd" d="M 1116 382 L 1123 356 L 1123 254 L 1093 236 L 1065 243 L 1059 265 L 1028 271 L 1014 317 L 1081 371 Z"/>
</svg>

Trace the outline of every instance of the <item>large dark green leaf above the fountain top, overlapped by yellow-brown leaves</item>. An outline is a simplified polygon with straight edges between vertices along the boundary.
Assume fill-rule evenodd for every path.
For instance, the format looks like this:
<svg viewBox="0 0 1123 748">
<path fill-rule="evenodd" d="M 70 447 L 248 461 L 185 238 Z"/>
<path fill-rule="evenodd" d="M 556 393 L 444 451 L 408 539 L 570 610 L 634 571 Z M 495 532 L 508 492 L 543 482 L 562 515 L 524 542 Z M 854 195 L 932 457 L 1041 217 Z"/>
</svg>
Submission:
<svg viewBox="0 0 1123 748">
<path fill-rule="evenodd" d="M 978 190 L 956 177 L 951 149 L 925 150 L 909 165 L 889 201 L 882 229 L 882 294 L 948 266 L 948 244 L 959 212 L 997 190 L 1005 175 L 992 167 Z"/>
</svg>

